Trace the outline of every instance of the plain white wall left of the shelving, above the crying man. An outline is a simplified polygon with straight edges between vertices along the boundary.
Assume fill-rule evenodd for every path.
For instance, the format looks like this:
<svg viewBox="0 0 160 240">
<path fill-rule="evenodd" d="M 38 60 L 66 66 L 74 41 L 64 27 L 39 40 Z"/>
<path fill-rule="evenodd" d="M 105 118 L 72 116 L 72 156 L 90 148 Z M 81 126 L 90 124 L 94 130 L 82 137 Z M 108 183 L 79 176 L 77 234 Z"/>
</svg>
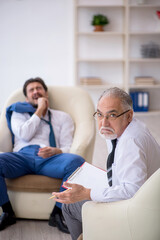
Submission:
<svg viewBox="0 0 160 240">
<path fill-rule="evenodd" d="M 0 0 L 0 112 L 25 80 L 73 84 L 73 0 Z"/>
</svg>

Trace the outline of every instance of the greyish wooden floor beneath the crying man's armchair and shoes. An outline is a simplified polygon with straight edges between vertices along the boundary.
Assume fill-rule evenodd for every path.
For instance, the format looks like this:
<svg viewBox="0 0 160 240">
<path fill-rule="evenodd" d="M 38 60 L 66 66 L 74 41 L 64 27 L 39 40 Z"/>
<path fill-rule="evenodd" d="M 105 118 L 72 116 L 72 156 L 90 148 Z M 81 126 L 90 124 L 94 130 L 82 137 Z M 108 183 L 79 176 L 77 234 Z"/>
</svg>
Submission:
<svg viewBox="0 0 160 240">
<path fill-rule="evenodd" d="M 50 227 L 48 221 L 19 219 L 0 231 L 0 240 L 71 240 L 71 236 Z"/>
</svg>

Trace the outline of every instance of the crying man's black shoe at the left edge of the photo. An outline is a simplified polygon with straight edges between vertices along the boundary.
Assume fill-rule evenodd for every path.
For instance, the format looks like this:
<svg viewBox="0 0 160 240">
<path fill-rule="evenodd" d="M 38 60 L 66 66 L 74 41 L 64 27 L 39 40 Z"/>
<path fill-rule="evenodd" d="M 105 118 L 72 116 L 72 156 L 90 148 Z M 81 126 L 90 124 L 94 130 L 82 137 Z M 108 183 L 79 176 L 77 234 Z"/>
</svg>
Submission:
<svg viewBox="0 0 160 240">
<path fill-rule="evenodd" d="M 0 231 L 15 223 L 16 218 L 14 215 L 9 215 L 9 213 L 3 212 L 0 216 Z"/>
</svg>

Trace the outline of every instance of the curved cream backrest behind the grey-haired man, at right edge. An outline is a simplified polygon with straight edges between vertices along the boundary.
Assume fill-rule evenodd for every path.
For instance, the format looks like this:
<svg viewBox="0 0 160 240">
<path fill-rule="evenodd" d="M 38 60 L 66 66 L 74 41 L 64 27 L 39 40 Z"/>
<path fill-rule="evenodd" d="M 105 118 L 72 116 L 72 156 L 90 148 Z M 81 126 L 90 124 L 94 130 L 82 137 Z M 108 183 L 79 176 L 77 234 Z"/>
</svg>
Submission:
<svg viewBox="0 0 160 240">
<path fill-rule="evenodd" d="M 127 212 L 132 239 L 160 239 L 160 169 L 131 199 Z"/>
</svg>

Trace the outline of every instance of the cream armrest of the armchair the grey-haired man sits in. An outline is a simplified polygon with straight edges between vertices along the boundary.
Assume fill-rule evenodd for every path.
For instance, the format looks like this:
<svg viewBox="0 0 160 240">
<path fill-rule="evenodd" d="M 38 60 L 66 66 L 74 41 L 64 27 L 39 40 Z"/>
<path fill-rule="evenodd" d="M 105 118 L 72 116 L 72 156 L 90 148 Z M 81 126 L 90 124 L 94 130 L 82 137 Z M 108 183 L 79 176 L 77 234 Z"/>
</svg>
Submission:
<svg viewBox="0 0 160 240">
<path fill-rule="evenodd" d="M 127 209 L 130 200 L 86 202 L 82 208 L 83 240 L 131 240 Z"/>
</svg>

